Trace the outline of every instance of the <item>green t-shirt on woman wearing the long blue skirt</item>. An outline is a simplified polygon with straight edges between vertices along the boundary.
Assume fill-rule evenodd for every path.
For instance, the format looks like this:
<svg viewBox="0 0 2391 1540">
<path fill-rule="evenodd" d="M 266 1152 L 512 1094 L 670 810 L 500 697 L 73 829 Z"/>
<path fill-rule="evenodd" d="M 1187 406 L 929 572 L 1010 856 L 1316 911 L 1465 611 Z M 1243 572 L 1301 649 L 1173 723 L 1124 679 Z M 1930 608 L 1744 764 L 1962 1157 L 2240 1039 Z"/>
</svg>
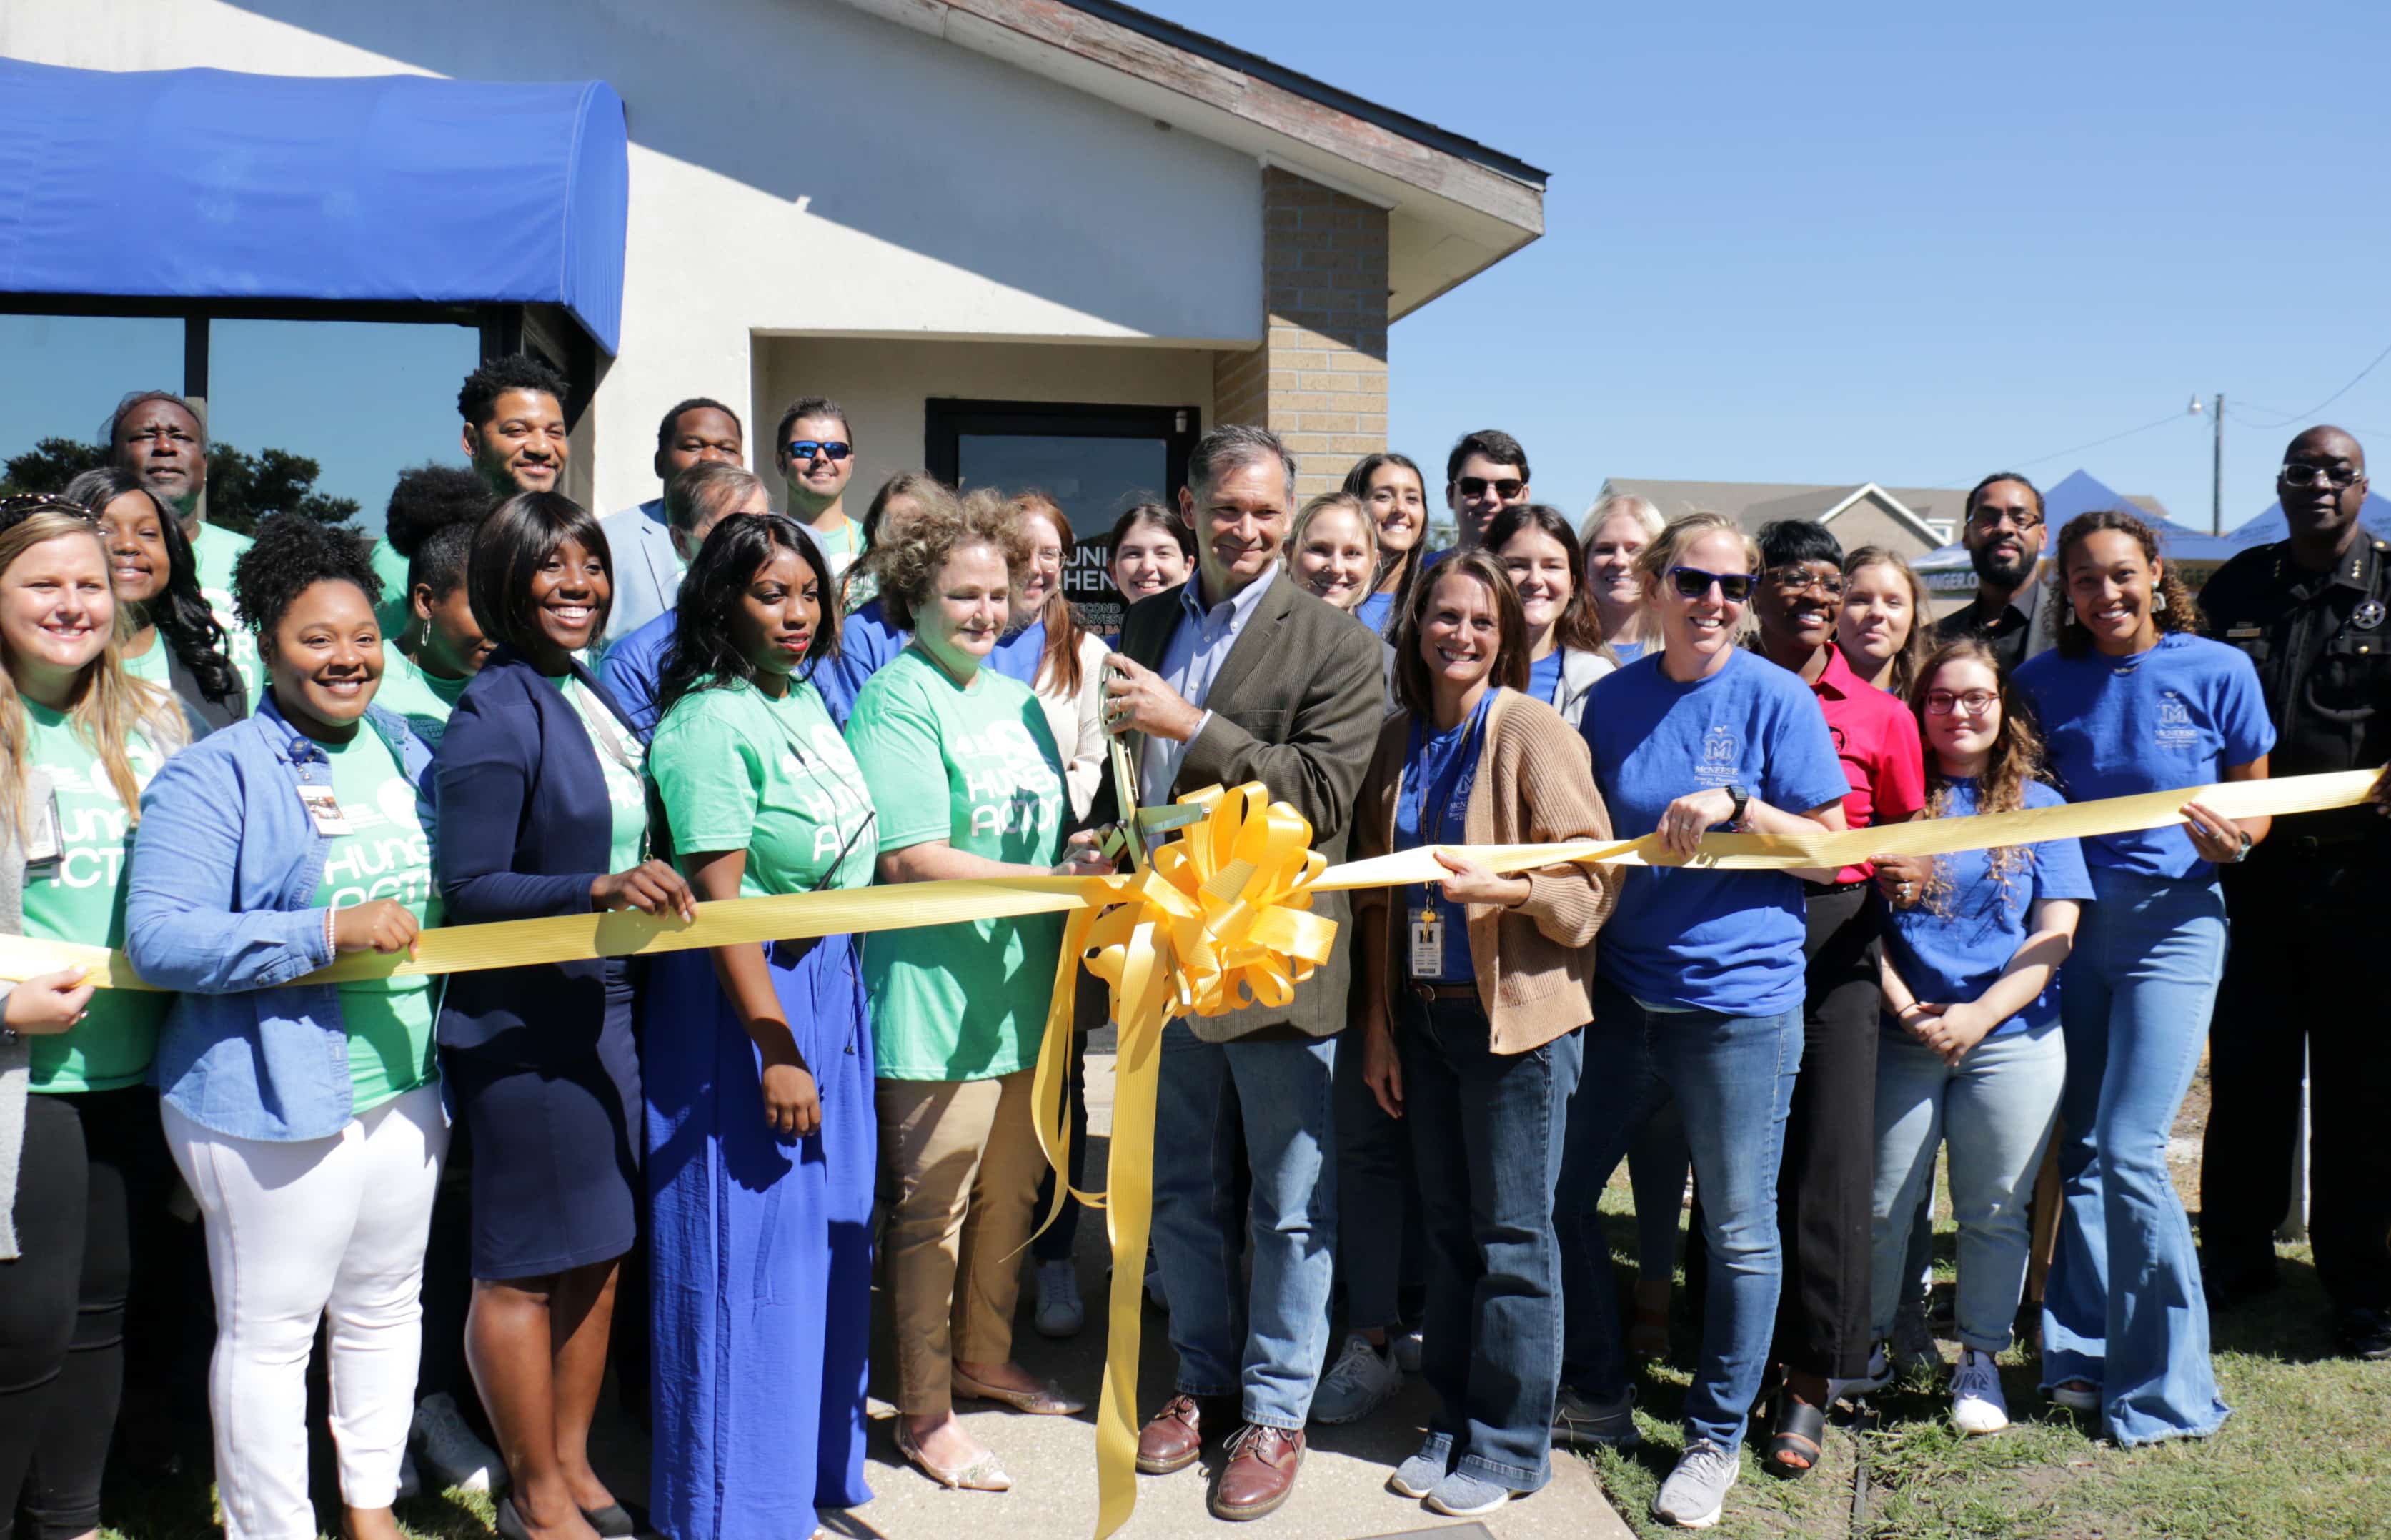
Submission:
<svg viewBox="0 0 2391 1540">
<path fill-rule="evenodd" d="M 779 701 L 753 684 L 681 696 L 648 770 L 677 851 L 748 854 L 739 897 L 870 885 L 873 794 L 811 684 Z"/>
</svg>

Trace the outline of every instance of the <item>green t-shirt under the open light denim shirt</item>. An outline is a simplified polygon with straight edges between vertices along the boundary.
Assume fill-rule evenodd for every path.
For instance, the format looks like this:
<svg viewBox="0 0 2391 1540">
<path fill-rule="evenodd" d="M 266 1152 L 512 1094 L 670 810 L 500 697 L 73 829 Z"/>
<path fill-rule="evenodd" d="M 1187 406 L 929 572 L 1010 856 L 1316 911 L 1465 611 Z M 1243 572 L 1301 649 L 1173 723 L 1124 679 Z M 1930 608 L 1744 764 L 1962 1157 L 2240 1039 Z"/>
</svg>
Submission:
<svg viewBox="0 0 2391 1540">
<path fill-rule="evenodd" d="M 397 899 L 418 925 L 438 925 L 430 830 L 399 756 L 371 722 L 347 744 L 318 748 L 332 760 L 332 796 L 349 832 L 330 837 L 316 909 Z M 349 1031 L 351 1112 L 371 1112 L 435 1076 L 430 978 L 344 983 L 340 1021 Z"/>
</svg>

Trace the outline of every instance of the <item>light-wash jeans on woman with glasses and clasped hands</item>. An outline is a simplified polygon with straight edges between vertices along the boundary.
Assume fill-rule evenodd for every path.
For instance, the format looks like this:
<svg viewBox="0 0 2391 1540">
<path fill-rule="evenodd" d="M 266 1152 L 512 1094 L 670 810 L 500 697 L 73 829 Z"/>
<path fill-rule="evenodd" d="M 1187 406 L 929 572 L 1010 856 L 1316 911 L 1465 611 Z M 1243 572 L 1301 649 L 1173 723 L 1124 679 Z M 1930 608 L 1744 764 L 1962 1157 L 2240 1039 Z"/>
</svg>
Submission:
<svg viewBox="0 0 2391 1540">
<path fill-rule="evenodd" d="M 2025 1291 L 2032 1224 L 2025 1205 L 2068 1071 L 2059 1023 L 1985 1038 L 1956 1064 L 1908 1033 L 1877 1043 L 1877 1193 L 1872 1208 L 1875 1339 L 1918 1289 L 1910 1265 L 1918 1198 L 1934 1191 L 1934 1148 L 1951 1145 L 1958 1220 L 1958 1339 L 1980 1353 L 2008 1349 Z"/>
</svg>

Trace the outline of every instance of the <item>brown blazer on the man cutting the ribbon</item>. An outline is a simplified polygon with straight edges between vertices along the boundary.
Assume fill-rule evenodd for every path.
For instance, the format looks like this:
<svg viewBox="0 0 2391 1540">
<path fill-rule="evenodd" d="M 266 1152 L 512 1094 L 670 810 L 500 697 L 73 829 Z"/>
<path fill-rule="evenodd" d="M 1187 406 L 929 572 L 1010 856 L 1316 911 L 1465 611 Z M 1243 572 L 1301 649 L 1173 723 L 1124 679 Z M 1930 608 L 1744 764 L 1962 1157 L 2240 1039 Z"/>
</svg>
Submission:
<svg viewBox="0 0 2391 1540">
<path fill-rule="evenodd" d="M 1121 624 L 1121 653 L 1160 670 L 1184 619 L 1179 588 L 1138 600 Z M 1310 820 L 1313 849 L 1327 856 L 1329 866 L 1344 861 L 1353 827 L 1353 794 L 1360 789 L 1370 741 L 1387 715 L 1380 653 L 1382 646 L 1365 624 L 1296 588 L 1282 564 L 1246 617 L 1246 629 L 1236 634 L 1219 677 L 1212 679 L 1212 691 L 1203 701 L 1212 720 L 1188 744 L 1172 796 L 1258 780 L 1270 787 L 1274 801 L 1291 803 Z M 1107 775 L 1097 784 L 1086 823 L 1117 818 Z M 1339 949 L 1353 942 L 1346 894 L 1320 894 L 1313 913 L 1337 921 Z M 1296 997 L 1284 1009 L 1246 1007 L 1227 1016 L 1188 1016 L 1188 1026 L 1205 1043 L 1229 1043 L 1262 1031 L 1329 1038 L 1346 1026 L 1351 976 L 1351 968 L 1332 957 L 1329 966 L 1296 985 Z M 1086 1014 L 1081 1019 L 1086 1021 Z"/>
</svg>

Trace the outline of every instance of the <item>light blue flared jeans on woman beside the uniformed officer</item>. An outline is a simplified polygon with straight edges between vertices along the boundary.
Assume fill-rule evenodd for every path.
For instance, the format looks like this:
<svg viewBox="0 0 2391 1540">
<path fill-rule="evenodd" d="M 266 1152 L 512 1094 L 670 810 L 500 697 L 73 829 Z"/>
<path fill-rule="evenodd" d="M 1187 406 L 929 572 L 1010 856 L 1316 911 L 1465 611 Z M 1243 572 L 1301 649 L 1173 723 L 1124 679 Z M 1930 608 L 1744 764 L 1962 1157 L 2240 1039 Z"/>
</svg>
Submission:
<svg viewBox="0 0 2391 1540">
<path fill-rule="evenodd" d="M 2166 1138 L 2209 1035 L 2226 954 L 2216 882 L 2092 868 L 2059 1019 L 2059 1255 L 2042 1301 L 2042 1385 L 2102 1392 L 2118 1444 L 2216 1432 L 2209 1308 Z"/>
</svg>

